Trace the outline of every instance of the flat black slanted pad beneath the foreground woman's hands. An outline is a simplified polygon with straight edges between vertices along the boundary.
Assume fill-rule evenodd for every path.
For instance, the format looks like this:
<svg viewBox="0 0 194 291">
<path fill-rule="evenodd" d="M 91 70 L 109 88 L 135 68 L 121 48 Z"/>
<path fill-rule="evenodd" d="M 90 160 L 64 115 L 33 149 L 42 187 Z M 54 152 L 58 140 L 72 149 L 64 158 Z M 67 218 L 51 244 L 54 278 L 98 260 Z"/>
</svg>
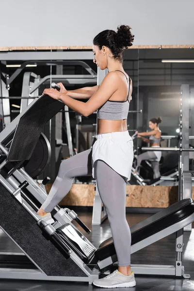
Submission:
<svg viewBox="0 0 194 291">
<path fill-rule="evenodd" d="M 65 104 L 42 95 L 20 118 L 11 147 L 9 162 L 30 160 L 45 124 L 64 108 Z"/>
</svg>

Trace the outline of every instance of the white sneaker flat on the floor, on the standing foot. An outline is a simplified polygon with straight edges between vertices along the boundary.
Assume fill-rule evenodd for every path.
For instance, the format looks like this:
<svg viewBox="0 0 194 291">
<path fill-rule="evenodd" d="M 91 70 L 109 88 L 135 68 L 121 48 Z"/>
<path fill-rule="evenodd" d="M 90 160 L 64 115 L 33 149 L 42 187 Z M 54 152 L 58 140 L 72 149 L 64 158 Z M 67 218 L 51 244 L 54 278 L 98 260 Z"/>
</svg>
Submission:
<svg viewBox="0 0 194 291">
<path fill-rule="evenodd" d="M 117 288 L 117 287 L 134 287 L 136 285 L 135 276 L 132 272 L 131 275 L 126 276 L 121 274 L 118 270 L 112 274 L 102 278 L 94 280 L 93 284 L 102 288 Z"/>
</svg>

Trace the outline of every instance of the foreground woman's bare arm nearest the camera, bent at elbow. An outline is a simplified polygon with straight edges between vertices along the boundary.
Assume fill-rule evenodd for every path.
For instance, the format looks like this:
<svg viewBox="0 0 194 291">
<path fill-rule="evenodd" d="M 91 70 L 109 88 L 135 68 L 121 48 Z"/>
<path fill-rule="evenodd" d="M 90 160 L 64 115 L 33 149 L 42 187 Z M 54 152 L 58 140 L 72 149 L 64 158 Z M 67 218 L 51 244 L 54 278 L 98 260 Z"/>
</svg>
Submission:
<svg viewBox="0 0 194 291">
<path fill-rule="evenodd" d="M 53 88 L 45 89 L 43 93 L 54 99 L 61 100 L 65 105 L 83 116 L 89 116 L 108 101 L 113 93 L 117 91 L 118 83 L 119 79 L 117 74 L 115 72 L 109 72 L 103 79 L 99 89 L 87 102 L 75 100 Z"/>
</svg>

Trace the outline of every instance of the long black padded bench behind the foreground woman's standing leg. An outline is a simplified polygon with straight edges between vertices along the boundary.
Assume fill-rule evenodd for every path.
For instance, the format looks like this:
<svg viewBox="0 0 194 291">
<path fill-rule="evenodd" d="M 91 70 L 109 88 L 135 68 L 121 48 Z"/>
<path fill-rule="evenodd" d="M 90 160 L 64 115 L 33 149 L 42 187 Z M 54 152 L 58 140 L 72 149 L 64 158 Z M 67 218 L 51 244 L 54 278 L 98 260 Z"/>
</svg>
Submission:
<svg viewBox="0 0 194 291">
<path fill-rule="evenodd" d="M 172 226 L 193 213 L 194 200 L 191 198 L 183 199 L 161 210 L 144 221 L 130 227 L 131 245 L 146 239 L 168 226 Z M 95 257 L 98 260 L 103 260 L 115 255 L 115 253 L 113 238 L 109 238 L 99 245 L 99 248 L 95 252 Z"/>
</svg>

